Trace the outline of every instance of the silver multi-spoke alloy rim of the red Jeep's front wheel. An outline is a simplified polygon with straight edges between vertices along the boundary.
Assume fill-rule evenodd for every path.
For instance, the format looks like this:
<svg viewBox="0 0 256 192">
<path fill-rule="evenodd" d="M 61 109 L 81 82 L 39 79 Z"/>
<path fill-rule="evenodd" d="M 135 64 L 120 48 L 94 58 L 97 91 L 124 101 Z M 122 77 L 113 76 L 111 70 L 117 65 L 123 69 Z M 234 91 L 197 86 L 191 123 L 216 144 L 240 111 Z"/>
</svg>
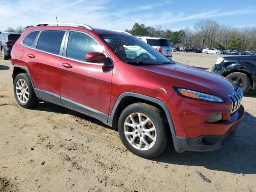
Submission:
<svg viewBox="0 0 256 192">
<path fill-rule="evenodd" d="M 156 128 L 142 113 L 132 113 L 126 118 L 124 134 L 130 145 L 138 150 L 149 150 L 156 143 Z"/>
</svg>

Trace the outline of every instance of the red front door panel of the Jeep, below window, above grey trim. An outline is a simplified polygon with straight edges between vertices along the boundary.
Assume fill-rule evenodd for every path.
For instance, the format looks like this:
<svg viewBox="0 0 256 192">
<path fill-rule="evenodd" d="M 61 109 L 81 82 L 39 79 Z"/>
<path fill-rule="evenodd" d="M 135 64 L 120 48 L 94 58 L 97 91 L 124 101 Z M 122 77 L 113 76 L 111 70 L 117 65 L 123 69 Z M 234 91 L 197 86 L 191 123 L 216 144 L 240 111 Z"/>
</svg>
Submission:
<svg viewBox="0 0 256 192">
<path fill-rule="evenodd" d="M 85 64 L 67 58 L 61 58 L 60 63 L 72 66 L 59 66 L 60 96 L 108 114 L 112 66 Z"/>
</svg>

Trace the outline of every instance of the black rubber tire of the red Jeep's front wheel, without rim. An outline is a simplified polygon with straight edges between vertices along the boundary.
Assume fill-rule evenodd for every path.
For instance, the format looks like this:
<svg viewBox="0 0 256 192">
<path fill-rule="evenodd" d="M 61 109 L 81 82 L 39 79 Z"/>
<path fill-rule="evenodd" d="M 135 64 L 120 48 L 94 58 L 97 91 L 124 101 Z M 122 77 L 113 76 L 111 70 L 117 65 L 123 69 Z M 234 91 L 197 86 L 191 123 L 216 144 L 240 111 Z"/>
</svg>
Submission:
<svg viewBox="0 0 256 192">
<path fill-rule="evenodd" d="M 154 145 L 148 150 L 136 149 L 126 139 L 124 134 L 124 123 L 126 118 L 128 118 L 128 116 L 133 113 L 142 113 L 148 116 L 156 128 L 156 141 Z M 124 146 L 126 146 L 126 148 L 132 153 L 143 158 L 152 158 L 161 154 L 166 149 L 169 141 L 171 140 L 169 126 L 167 120 L 163 118 L 164 116 L 165 114 L 162 112 L 162 110 L 145 103 L 134 103 L 126 107 L 122 111 L 118 121 L 118 132 Z"/>
</svg>

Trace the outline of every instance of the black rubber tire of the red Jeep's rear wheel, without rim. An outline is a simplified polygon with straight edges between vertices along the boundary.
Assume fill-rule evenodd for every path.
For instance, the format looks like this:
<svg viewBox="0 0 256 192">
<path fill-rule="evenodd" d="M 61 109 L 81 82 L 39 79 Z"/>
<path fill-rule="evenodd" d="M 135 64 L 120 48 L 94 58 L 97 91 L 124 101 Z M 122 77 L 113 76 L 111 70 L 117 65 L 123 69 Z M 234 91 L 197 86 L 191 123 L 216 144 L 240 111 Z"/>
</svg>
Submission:
<svg viewBox="0 0 256 192">
<path fill-rule="evenodd" d="M 17 93 L 16 93 L 16 83 L 18 80 L 24 80 L 27 84 L 27 87 L 28 87 L 28 100 L 24 103 L 22 103 L 19 99 L 18 99 L 18 96 L 17 96 Z M 34 92 L 34 89 L 32 87 L 32 84 L 28 78 L 28 74 L 26 73 L 20 73 L 16 76 L 16 78 L 14 79 L 14 83 L 13 83 L 13 90 L 14 90 L 14 96 L 15 96 L 15 99 L 16 101 L 18 102 L 18 104 L 24 108 L 32 108 L 36 105 L 38 105 L 38 98 Z"/>
</svg>

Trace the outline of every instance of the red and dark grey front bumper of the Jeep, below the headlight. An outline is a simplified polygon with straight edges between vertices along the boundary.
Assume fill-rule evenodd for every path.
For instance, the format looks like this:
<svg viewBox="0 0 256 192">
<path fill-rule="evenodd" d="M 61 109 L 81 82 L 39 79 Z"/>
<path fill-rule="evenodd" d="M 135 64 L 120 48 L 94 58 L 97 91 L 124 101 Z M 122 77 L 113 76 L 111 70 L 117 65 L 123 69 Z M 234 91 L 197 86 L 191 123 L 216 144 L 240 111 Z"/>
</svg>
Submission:
<svg viewBox="0 0 256 192">
<path fill-rule="evenodd" d="M 174 148 L 177 152 L 184 151 L 212 151 L 224 146 L 235 134 L 236 128 L 244 116 L 244 107 L 240 108 L 230 116 L 228 105 L 223 104 L 208 108 L 200 103 L 189 105 L 188 101 L 176 100 L 174 95 L 172 101 L 166 102 L 173 120 L 175 133 L 172 134 Z M 180 110 L 180 104 L 184 110 Z M 216 123 L 204 123 L 205 117 L 210 113 L 222 113 L 226 120 Z M 228 119 L 230 117 L 230 119 Z"/>
</svg>

